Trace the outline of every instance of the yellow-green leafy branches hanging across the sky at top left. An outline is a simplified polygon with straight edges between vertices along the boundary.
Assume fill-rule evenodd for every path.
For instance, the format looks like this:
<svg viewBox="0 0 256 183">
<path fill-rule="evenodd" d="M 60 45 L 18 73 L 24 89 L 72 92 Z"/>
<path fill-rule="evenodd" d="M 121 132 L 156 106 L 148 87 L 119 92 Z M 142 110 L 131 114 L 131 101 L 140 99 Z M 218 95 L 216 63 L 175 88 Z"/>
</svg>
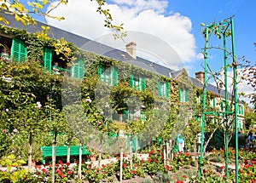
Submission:
<svg viewBox="0 0 256 183">
<path fill-rule="evenodd" d="M 96 12 L 99 14 L 102 14 L 105 18 L 105 25 L 109 29 L 115 31 L 114 37 L 119 38 L 125 36 L 125 33 L 121 32 L 123 30 L 123 24 L 120 24 L 119 26 L 113 24 L 113 17 L 110 14 L 109 9 L 105 9 L 104 6 L 106 5 L 106 0 L 90 0 L 90 1 L 96 1 L 98 3 L 98 8 L 96 9 Z M 32 0 L 27 2 L 28 8 L 26 8 L 26 5 L 23 3 L 20 3 L 20 0 L 15 1 L 7 1 L 3 0 L 1 1 L 1 13 L 4 14 L 12 14 L 15 16 L 15 20 L 20 21 L 20 23 L 24 26 L 28 24 L 35 24 L 37 25 L 37 21 L 33 18 L 33 15 L 37 14 L 39 16 L 42 16 L 44 20 L 46 21 L 46 18 L 52 18 L 55 20 L 64 20 L 64 17 L 57 17 L 53 16 L 50 13 L 57 9 L 62 4 L 67 4 L 68 0 L 57 0 L 57 1 L 51 1 L 51 0 Z M 47 10 L 44 10 L 48 8 Z M 4 19 L 3 16 L 0 15 L 0 21 L 3 21 L 4 24 L 8 25 L 8 20 Z M 43 28 L 43 27 L 42 27 Z M 42 34 L 48 33 L 48 28 L 44 29 L 44 31 L 41 32 Z"/>
</svg>

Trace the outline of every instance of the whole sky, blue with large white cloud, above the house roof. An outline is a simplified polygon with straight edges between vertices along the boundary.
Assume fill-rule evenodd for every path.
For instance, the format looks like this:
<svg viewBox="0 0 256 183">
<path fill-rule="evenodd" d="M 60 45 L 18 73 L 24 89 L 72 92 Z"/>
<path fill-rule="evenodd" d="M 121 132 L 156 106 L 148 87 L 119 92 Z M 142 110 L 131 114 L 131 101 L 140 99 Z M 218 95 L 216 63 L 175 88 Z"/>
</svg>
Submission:
<svg viewBox="0 0 256 183">
<path fill-rule="evenodd" d="M 52 12 L 64 16 L 65 20 L 48 19 L 48 23 L 117 49 L 125 49 L 126 43 L 136 42 L 138 56 L 174 69 L 185 67 L 189 76 L 195 77 L 195 71 L 203 71 L 204 64 L 201 23 L 218 23 L 235 15 L 236 56 L 245 56 L 252 63 L 256 61 L 253 46 L 256 43 L 255 0 L 207 3 L 203 0 L 107 0 L 106 8 L 110 9 L 115 24 L 124 23 L 128 33 L 124 41 L 114 40 L 113 32 L 104 27 L 104 17 L 96 13 L 95 1 L 69 0 L 66 6 Z M 209 46 L 222 47 L 222 43 L 212 36 Z M 227 38 L 227 49 L 231 50 L 230 38 Z M 210 49 L 209 65 L 212 71 L 219 71 L 224 66 L 223 51 Z M 239 89 L 253 92 L 246 83 L 240 84 Z"/>
</svg>

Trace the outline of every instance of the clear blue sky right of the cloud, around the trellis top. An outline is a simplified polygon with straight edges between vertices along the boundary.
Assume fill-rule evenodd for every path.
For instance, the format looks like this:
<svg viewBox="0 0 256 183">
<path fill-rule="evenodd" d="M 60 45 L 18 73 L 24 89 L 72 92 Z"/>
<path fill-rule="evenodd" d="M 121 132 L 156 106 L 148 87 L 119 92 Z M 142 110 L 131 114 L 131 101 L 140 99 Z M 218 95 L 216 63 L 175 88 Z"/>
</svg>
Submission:
<svg viewBox="0 0 256 183">
<path fill-rule="evenodd" d="M 256 1 L 254 0 L 217 0 L 217 1 L 186 1 L 174 0 L 168 2 L 168 10 L 179 12 L 186 15 L 192 21 L 192 34 L 195 35 L 195 43 L 197 52 L 201 51 L 204 46 L 204 39 L 201 36 L 201 22 L 207 24 L 213 20 L 219 22 L 232 16 L 235 23 L 235 43 L 237 57 L 246 56 L 248 60 L 255 63 L 256 52 L 253 43 L 256 42 Z M 215 43 L 214 40 L 210 44 Z M 217 42 L 218 44 L 221 42 Z M 218 57 L 222 61 L 222 52 Z M 214 55 L 214 58 L 217 55 Z M 215 60 L 210 60 L 210 62 Z M 222 63 L 219 63 L 220 66 Z M 195 70 L 199 70 L 201 66 L 195 62 Z M 218 63 L 216 63 L 218 69 Z"/>
</svg>

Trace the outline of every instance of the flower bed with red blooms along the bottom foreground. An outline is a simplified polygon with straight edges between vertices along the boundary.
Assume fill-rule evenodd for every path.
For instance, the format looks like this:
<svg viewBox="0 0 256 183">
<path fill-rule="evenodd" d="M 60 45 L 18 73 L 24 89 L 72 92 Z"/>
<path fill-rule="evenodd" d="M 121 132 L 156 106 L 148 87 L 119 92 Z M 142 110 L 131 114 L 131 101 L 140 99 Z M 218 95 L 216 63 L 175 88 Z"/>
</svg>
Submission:
<svg viewBox="0 0 256 183">
<path fill-rule="evenodd" d="M 230 148 L 230 163 L 235 162 L 234 149 Z M 142 154 L 143 153 L 143 154 Z M 131 158 L 124 154 L 120 168 L 120 154 L 115 154 L 115 161 L 92 163 L 86 159 L 82 163 L 82 177 L 78 177 L 78 162 L 55 164 L 55 182 L 235 182 L 235 169 L 230 169 L 229 178 L 224 172 L 224 151 L 213 149 L 207 152 L 203 160 L 203 174 L 198 178 L 198 156 L 190 152 L 173 153 L 171 159 L 165 159 L 163 146 L 152 146 L 146 151 L 135 154 Z M 147 156 L 145 156 L 147 155 Z M 239 181 L 255 182 L 256 153 L 255 149 L 240 149 L 239 151 Z M 103 161 L 103 160 L 102 160 Z M 0 172 L 1 182 L 52 182 L 52 163 L 35 165 L 32 171 L 27 171 L 22 165 L 25 161 L 14 155 L 3 158 L 5 171 Z M 218 165 L 216 165 L 218 163 Z"/>
</svg>

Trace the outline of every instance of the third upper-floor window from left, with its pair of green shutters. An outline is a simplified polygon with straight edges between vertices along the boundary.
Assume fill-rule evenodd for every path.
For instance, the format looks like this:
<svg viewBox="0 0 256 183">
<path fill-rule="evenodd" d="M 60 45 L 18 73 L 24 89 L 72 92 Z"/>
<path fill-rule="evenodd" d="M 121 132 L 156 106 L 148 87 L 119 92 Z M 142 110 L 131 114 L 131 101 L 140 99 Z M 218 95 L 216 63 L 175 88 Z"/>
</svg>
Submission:
<svg viewBox="0 0 256 183">
<path fill-rule="evenodd" d="M 114 66 L 107 67 L 100 64 L 98 74 L 101 81 L 109 83 L 112 86 L 118 85 L 118 72 Z"/>
</svg>

